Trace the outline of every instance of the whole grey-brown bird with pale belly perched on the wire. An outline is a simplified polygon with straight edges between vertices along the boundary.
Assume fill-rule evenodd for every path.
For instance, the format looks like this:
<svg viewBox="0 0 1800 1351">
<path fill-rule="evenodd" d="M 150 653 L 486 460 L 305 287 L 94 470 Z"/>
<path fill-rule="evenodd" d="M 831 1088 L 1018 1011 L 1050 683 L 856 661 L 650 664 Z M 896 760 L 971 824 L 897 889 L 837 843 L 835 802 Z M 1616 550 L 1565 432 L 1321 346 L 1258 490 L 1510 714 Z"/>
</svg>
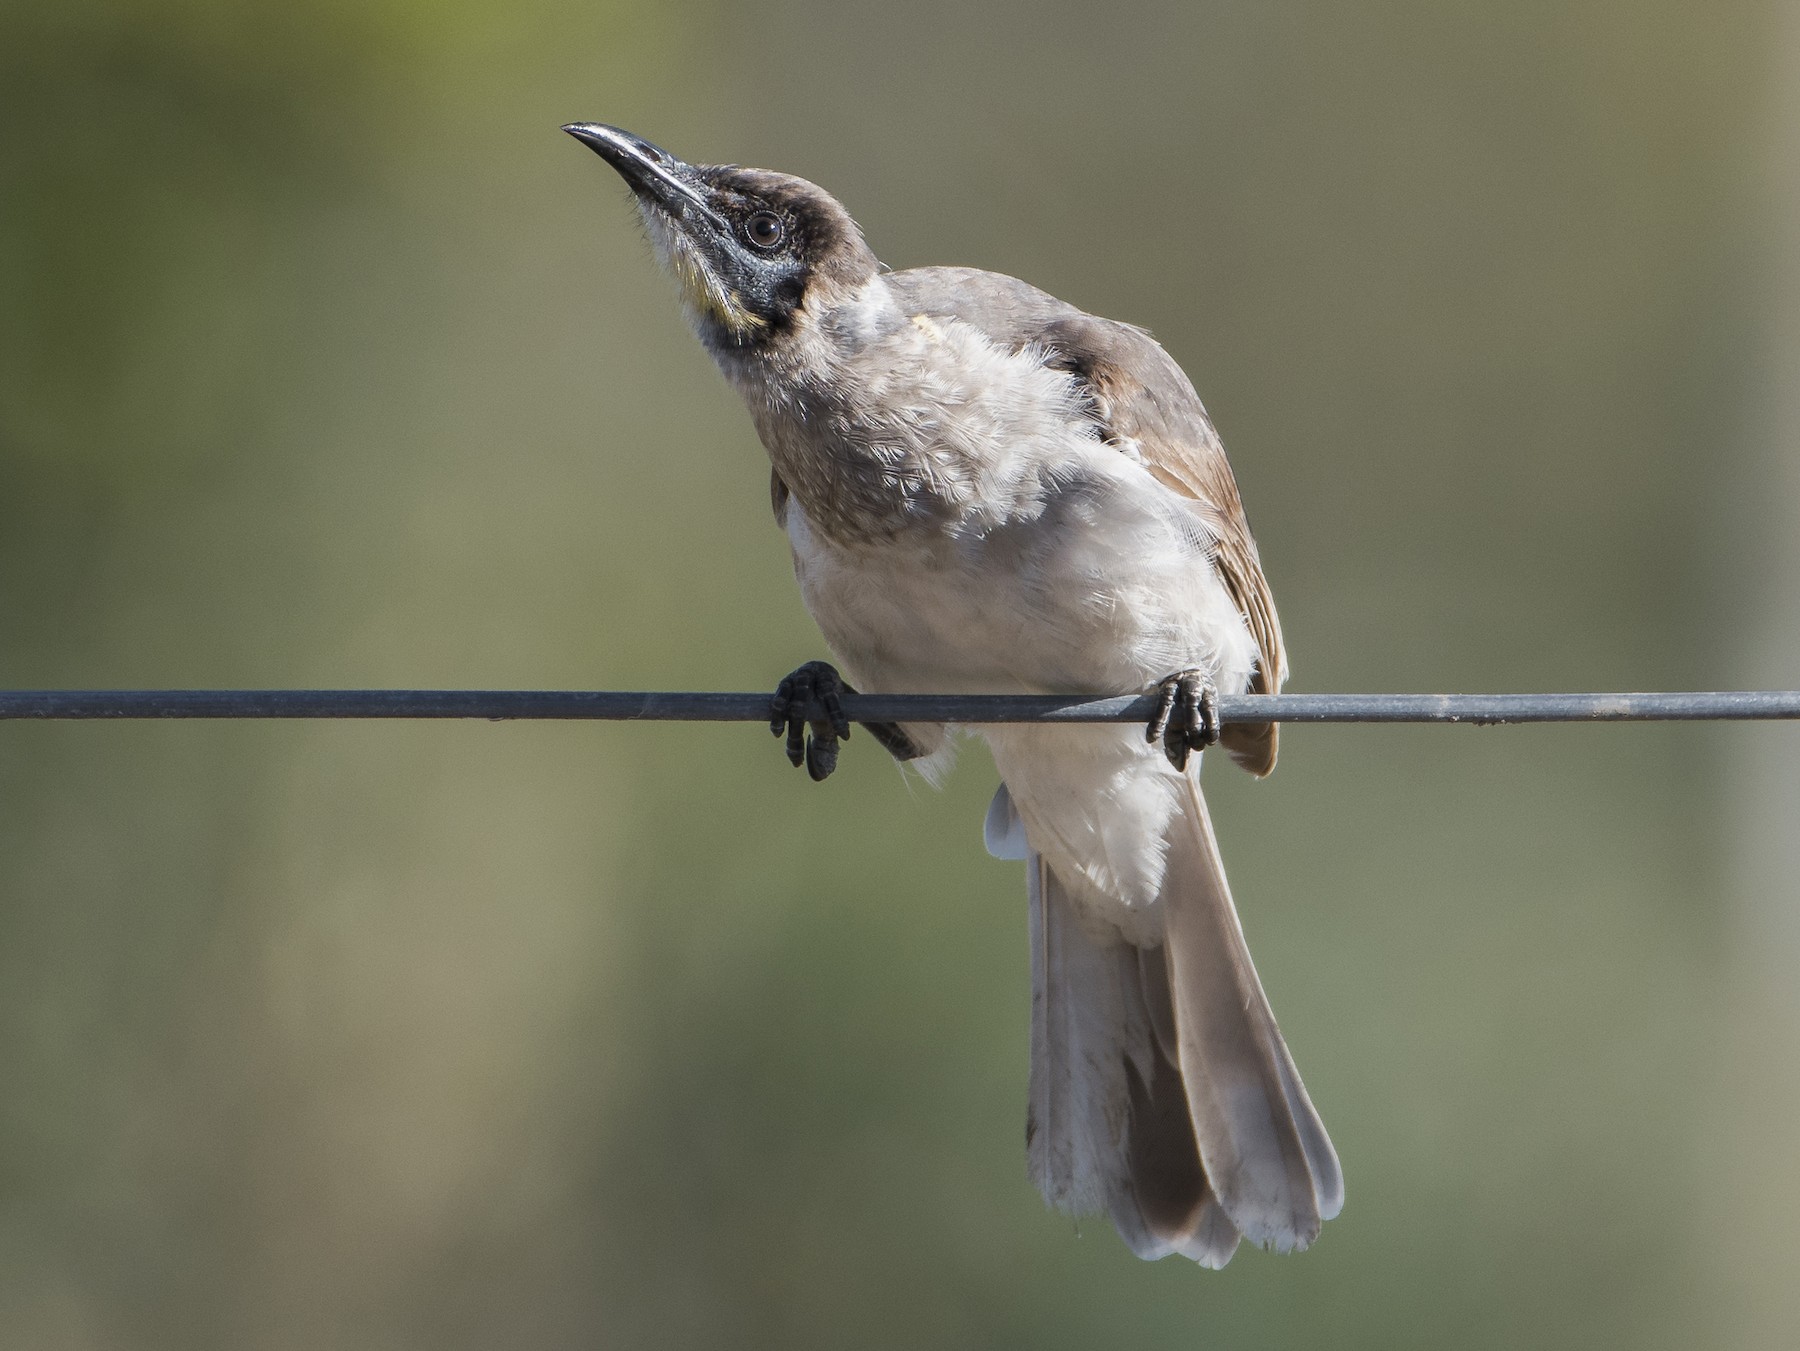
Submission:
<svg viewBox="0 0 1800 1351">
<path fill-rule="evenodd" d="M 770 729 L 824 779 L 844 693 L 1138 693 L 1136 725 L 868 725 L 938 781 L 958 730 L 1026 865 L 1026 1159 L 1046 1202 L 1105 1212 L 1145 1259 L 1224 1266 L 1310 1245 L 1337 1153 L 1251 964 L 1199 765 L 1274 768 L 1287 653 L 1224 446 L 1145 329 L 1013 277 L 886 268 L 792 174 L 688 164 L 571 122 L 630 189 L 700 344 L 770 462 L 808 612 L 835 657 L 776 689 Z"/>
</svg>

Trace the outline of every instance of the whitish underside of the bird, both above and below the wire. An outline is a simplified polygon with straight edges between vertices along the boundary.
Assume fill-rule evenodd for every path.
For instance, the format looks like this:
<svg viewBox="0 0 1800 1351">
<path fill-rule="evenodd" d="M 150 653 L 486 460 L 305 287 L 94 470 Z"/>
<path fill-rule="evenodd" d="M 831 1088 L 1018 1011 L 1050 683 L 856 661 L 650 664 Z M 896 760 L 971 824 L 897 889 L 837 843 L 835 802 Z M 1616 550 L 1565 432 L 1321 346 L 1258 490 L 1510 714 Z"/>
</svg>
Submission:
<svg viewBox="0 0 1800 1351">
<path fill-rule="evenodd" d="M 1255 640 L 1181 500 L 1105 461 L 1069 493 L 981 534 L 932 529 L 857 549 L 823 540 L 790 504 L 801 594 L 846 678 L 878 693 L 1109 694 L 1199 667 L 1220 691 L 1244 691 Z M 1177 795 L 1143 729 L 972 730 L 1031 847 L 1089 912 L 1154 943 Z"/>
</svg>

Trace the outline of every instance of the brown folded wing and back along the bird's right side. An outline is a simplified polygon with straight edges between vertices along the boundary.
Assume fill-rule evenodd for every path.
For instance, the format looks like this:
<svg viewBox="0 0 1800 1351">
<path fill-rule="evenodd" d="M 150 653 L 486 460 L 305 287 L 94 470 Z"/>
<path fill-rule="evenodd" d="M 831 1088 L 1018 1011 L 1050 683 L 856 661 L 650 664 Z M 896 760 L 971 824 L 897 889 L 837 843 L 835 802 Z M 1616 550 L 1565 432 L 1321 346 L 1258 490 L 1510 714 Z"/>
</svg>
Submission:
<svg viewBox="0 0 1800 1351">
<path fill-rule="evenodd" d="M 1237 479 L 1201 396 L 1156 338 L 994 272 L 914 268 L 886 281 L 907 313 L 968 324 L 1012 351 L 1039 347 L 1049 365 L 1082 383 L 1102 437 L 1206 518 L 1217 540 L 1219 576 L 1256 639 L 1260 660 L 1251 689 L 1258 694 L 1280 691 L 1287 680 L 1282 621 L 1262 576 Z M 1220 741 L 1251 774 L 1274 768 L 1274 723 L 1233 723 Z"/>
</svg>

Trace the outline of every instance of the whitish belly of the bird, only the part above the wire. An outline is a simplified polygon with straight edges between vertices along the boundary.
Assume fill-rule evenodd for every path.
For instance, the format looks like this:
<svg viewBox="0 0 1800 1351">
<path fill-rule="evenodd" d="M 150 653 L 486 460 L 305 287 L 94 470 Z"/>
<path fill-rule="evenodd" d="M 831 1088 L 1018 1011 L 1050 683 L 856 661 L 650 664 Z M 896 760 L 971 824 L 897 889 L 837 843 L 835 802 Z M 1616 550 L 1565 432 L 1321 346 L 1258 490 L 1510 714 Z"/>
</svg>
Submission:
<svg viewBox="0 0 1800 1351">
<path fill-rule="evenodd" d="M 1116 452 L 1031 514 L 841 547 L 797 502 L 806 608 L 851 682 L 882 693 L 1136 693 L 1199 667 L 1249 685 L 1255 640 L 1186 504 Z"/>
</svg>

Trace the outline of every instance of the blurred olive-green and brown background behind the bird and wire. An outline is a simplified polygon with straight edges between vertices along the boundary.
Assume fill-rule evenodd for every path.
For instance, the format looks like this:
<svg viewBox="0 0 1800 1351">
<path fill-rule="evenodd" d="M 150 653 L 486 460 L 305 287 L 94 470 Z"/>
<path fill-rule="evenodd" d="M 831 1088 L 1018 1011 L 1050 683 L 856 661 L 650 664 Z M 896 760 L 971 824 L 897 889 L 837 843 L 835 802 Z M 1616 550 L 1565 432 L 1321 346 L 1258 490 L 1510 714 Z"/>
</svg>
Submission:
<svg viewBox="0 0 1800 1351">
<path fill-rule="evenodd" d="M 823 655 L 576 119 L 1152 327 L 1292 689 L 1796 685 L 1789 20 L 7 0 L 0 685 Z M 1791 1344 L 1793 730 L 1213 766 L 1348 1177 L 1213 1275 L 1024 1177 L 981 752 L 932 793 L 754 727 L 0 727 L 0 1342 Z"/>
</svg>

